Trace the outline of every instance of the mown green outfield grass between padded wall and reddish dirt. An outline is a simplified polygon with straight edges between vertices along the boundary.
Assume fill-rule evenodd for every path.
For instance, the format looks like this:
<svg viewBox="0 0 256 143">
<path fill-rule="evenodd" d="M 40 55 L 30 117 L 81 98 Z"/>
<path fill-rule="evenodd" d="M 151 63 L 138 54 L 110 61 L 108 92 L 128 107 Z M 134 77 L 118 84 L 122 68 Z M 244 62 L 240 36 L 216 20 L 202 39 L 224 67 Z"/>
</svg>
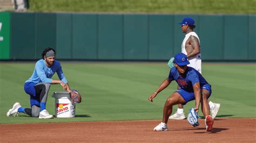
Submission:
<svg viewBox="0 0 256 143">
<path fill-rule="evenodd" d="M 82 94 L 83 102 L 76 106 L 76 118 L 38 119 L 21 113 L 6 117 L 15 102 L 29 107 L 29 95 L 23 89 L 31 76 L 34 62 L 0 62 L 0 123 L 38 123 L 61 121 L 146 120 L 161 119 L 167 97 L 176 89 L 175 82 L 161 92 L 153 103 L 147 101 L 159 84 L 168 76 L 166 63 L 99 63 L 62 62 L 64 74 L 72 88 Z M 218 117 L 256 117 L 256 65 L 203 64 L 203 75 L 212 84 L 211 101 L 221 103 Z M 53 78 L 57 78 L 54 76 Z M 55 113 L 54 91 L 51 85 L 46 109 Z M 194 106 L 194 101 L 185 106 Z M 174 106 L 174 111 L 177 106 Z M 201 111 L 199 112 L 202 115 Z"/>
</svg>

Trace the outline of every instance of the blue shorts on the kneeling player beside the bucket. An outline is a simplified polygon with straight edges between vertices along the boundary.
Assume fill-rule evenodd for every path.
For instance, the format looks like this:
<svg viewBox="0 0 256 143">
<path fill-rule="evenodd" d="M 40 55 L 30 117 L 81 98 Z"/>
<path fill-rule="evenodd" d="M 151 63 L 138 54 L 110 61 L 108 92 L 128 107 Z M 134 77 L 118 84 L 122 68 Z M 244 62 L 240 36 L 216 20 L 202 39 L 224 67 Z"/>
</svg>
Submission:
<svg viewBox="0 0 256 143">
<path fill-rule="evenodd" d="M 40 96 L 36 96 L 35 82 L 25 82 L 24 90 L 30 95 L 30 106 L 37 105 L 40 107 Z"/>
</svg>

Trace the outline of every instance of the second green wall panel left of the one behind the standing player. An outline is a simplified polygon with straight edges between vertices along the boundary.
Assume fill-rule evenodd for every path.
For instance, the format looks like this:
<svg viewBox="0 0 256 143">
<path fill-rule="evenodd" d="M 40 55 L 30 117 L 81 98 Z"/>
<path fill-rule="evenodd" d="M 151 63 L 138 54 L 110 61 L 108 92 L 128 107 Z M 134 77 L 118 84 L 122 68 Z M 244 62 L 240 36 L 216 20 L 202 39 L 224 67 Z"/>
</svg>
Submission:
<svg viewBox="0 0 256 143">
<path fill-rule="evenodd" d="M 148 60 L 148 16 L 124 15 L 124 59 Z"/>
</svg>

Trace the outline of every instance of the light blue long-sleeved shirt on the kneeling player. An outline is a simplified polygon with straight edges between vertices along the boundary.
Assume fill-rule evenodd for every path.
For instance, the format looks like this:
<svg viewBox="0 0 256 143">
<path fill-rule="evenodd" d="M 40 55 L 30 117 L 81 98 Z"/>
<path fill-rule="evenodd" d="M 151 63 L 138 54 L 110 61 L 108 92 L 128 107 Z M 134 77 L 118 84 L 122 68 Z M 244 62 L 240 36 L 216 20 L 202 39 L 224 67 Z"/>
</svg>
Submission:
<svg viewBox="0 0 256 143">
<path fill-rule="evenodd" d="M 52 83 L 51 77 L 53 74 L 57 72 L 59 80 L 62 80 L 64 83 L 68 83 L 66 80 L 63 71 L 62 66 L 60 65 L 59 61 L 54 61 L 53 65 L 51 67 L 46 66 L 45 60 L 41 59 L 36 62 L 35 70 L 33 71 L 32 76 L 29 78 L 29 80 L 25 82 L 43 82 L 43 83 Z"/>
</svg>

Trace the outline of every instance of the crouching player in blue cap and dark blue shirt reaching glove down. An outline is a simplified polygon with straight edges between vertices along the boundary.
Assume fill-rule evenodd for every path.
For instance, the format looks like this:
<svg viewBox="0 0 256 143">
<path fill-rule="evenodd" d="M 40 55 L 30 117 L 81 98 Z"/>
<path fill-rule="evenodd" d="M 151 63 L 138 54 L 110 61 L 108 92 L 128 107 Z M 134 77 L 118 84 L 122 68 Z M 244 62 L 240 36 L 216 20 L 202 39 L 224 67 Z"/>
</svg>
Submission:
<svg viewBox="0 0 256 143">
<path fill-rule="evenodd" d="M 206 131 L 212 131 L 214 120 L 210 116 L 209 104 L 207 99 L 211 96 L 211 85 L 207 83 L 205 78 L 194 68 L 187 67 L 190 62 L 187 56 L 183 53 L 178 53 L 174 56 L 174 67 L 171 68 L 169 77 L 167 77 L 160 87 L 149 96 L 149 101 L 153 102 L 153 98 L 159 92 L 164 90 L 172 81 L 176 81 L 180 87 L 179 90 L 173 92 L 167 98 L 164 105 L 163 120 L 154 128 L 154 131 L 167 131 L 167 121 L 172 113 L 172 106 L 176 104 L 185 105 L 187 102 L 196 99 L 196 107 L 198 112 L 199 103 L 201 103 L 201 110 L 205 117 Z"/>
</svg>

